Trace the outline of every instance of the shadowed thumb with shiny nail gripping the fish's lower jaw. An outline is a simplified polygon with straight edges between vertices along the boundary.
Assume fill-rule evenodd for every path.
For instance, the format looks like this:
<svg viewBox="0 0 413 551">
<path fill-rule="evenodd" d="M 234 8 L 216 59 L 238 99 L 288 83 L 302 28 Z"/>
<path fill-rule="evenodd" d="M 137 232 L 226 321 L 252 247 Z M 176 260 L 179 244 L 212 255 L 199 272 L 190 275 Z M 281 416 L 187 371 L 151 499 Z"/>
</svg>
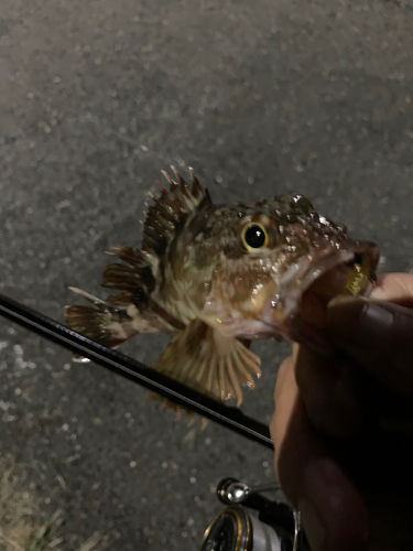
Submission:
<svg viewBox="0 0 413 551">
<path fill-rule="evenodd" d="M 395 391 L 413 393 L 413 310 L 339 296 L 328 304 L 326 318 L 341 352 Z"/>
</svg>

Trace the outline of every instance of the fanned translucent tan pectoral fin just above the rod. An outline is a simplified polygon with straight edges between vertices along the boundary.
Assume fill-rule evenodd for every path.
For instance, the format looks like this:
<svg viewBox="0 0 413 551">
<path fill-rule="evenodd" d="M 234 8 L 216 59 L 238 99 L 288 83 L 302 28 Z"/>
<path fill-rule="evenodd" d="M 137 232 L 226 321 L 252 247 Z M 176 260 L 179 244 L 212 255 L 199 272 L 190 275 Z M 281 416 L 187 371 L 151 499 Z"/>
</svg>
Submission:
<svg viewBox="0 0 413 551">
<path fill-rule="evenodd" d="M 260 358 L 235 337 L 193 320 L 167 345 L 153 368 L 171 379 L 224 402 L 242 402 L 241 385 L 254 387 Z"/>
</svg>

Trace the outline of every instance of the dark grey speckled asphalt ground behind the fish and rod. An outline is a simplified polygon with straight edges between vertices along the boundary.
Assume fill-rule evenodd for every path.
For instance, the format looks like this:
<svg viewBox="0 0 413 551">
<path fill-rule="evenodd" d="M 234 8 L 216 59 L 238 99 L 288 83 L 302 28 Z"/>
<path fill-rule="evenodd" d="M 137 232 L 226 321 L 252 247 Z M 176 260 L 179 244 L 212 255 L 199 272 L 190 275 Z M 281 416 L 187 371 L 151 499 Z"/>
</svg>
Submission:
<svg viewBox="0 0 413 551">
<path fill-rule="evenodd" d="M 104 251 L 140 242 L 160 169 L 216 202 L 297 190 L 385 270 L 413 267 L 413 3 L 2 0 L 1 292 L 63 320 L 99 292 Z M 182 169 L 185 171 L 185 169 Z M 271 453 L 196 434 L 145 391 L 0 322 L 1 453 L 29 469 L 64 550 L 189 551 L 224 476 L 274 478 Z M 154 359 L 156 337 L 124 350 Z M 246 411 L 268 421 L 287 347 L 257 344 Z"/>
</svg>

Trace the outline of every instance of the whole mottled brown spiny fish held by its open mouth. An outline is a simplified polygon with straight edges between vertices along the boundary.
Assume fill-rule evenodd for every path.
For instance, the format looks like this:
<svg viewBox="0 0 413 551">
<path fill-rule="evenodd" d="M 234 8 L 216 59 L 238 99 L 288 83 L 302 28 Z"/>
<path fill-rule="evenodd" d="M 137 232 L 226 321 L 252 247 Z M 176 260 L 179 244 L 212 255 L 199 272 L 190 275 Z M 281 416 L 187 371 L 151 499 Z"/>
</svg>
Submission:
<svg viewBox="0 0 413 551">
<path fill-rule="evenodd" d="M 325 312 L 338 294 L 368 295 L 379 249 L 349 237 L 298 193 L 256 203 L 213 204 L 171 166 L 150 194 L 140 248 L 109 251 L 105 300 L 66 306 L 66 325 L 108 348 L 143 333 L 171 341 L 153 369 L 219 402 L 239 407 L 261 376 L 259 338 L 323 347 Z"/>
</svg>

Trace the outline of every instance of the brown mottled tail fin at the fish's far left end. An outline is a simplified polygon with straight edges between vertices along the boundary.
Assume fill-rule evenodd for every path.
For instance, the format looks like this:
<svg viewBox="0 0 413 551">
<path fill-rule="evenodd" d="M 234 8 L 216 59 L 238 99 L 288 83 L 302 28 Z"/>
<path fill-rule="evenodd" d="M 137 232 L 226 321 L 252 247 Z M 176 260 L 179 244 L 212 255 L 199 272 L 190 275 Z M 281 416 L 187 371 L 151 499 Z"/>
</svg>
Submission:
<svg viewBox="0 0 413 551">
<path fill-rule="evenodd" d="M 107 348 L 116 348 L 138 333 L 126 312 L 80 289 L 70 290 L 93 304 L 66 306 L 66 325 L 70 329 Z"/>
</svg>

